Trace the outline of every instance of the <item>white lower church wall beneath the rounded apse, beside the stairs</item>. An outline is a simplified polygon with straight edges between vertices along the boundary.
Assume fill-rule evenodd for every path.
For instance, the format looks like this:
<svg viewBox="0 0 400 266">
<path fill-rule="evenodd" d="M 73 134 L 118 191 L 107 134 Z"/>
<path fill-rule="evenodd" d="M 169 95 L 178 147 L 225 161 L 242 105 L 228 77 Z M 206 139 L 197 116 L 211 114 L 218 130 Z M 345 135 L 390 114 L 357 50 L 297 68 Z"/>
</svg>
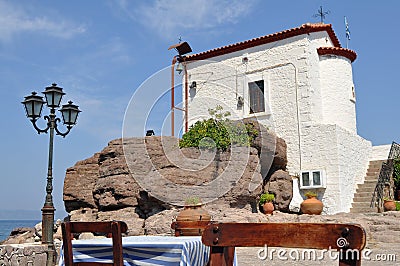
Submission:
<svg viewBox="0 0 400 266">
<path fill-rule="evenodd" d="M 350 211 L 357 184 L 364 181 L 368 168 L 371 142 L 338 125 L 313 125 L 302 133 L 302 170 L 321 169 L 326 174 L 326 188 L 316 189 L 324 213 Z"/>
</svg>

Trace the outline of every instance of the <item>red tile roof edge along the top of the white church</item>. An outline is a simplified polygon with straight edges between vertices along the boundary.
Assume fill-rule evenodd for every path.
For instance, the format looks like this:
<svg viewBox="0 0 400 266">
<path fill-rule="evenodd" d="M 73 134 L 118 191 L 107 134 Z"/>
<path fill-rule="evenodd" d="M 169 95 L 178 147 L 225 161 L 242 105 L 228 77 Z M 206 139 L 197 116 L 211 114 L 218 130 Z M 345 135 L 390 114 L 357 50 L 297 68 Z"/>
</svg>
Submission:
<svg viewBox="0 0 400 266">
<path fill-rule="evenodd" d="M 254 39 L 251 39 L 251 40 L 247 40 L 247 41 L 238 42 L 238 43 L 235 43 L 235 44 L 222 46 L 222 47 L 215 48 L 215 49 L 212 49 L 212 50 L 208 50 L 208 51 L 205 51 L 205 52 L 201 52 L 201 53 L 198 53 L 198 54 L 187 55 L 187 56 L 184 56 L 184 59 L 185 59 L 185 61 L 208 59 L 208 58 L 212 58 L 212 57 L 216 57 L 216 56 L 220 56 L 220 55 L 224 55 L 224 54 L 237 52 L 237 51 L 244 50 L 244 49 L 247 49 L 247 48 L 251 48 L 251 47 L 254 47 L 254 46 L 258 46 L 258 45 L 262 45 L 262 44 L 266 44 L 266 43 L 271 43 L 271 42 L 276 42 L 276 41 L 287 39 L 287 38 L 290 38 L 290 37 L 294 37 L 294 36 L 298 36 L 298 35 L 302 35 L 302 34 L 309 34 L 311 32 L 319 32 L 319 31 L 326 31 L 328 33 L 330 39 L 332 40 L 333 45 L 336 48 L 342 49 L 341 45 L 340 45 L 340 42 L 339 42 L 339 39 L 337 38 L 335 32 L 333 31 L 331 24 L 322 24 L 322 23 L 311 24 L 311 23 L 307 23 L 307 24 L 301 25 L 298 28 L 293 28 L 293 29 L 290 29 L 290 30 L 284 30 L 284 31 L 273 33 L 273 34 L 270 34 L 270 35 L 265 35 L 265 36 L 262 36 L 262 37 L 254 38 Z M 330 51 L 332 51 L 332 50 L 330 50 Z M 338 52 L 336 50 L 334 50 L 334 51 Z M 351 50 L 344 49 L 341 52 L 342 53 L 341 55 L 344 55 L 344 54 L 349 55 L 350 54 L 349 51 L 355 54 L 355 52 L 353 52 Z M 323 51 L 323 53 L 327 53 L 327 52 L 328 51 Z"/>
</svg>

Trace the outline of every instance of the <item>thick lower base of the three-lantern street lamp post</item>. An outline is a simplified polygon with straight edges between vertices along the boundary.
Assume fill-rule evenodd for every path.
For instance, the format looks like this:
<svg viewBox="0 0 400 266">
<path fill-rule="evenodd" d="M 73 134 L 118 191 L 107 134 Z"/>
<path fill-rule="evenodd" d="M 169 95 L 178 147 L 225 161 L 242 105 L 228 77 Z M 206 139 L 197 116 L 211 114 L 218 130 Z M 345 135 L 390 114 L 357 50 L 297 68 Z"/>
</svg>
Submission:
<svg viewBox="0 0 400 266">
<path fill-rule="evenodd" d="M 47 244 L 47 266 L 55 264 L 55 249 L 54 249 L 54 211 L 53 206 L 44 206 L 42 208 L 42 244 Z"/>
</svg>

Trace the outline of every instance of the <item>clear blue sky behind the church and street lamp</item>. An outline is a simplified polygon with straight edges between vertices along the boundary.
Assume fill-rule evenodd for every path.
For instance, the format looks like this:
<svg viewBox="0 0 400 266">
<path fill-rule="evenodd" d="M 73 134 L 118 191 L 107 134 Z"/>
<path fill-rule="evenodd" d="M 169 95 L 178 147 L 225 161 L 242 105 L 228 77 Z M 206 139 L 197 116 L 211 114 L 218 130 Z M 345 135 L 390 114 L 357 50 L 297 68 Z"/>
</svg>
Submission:
<svg viewBox="0 0 400 266">
<path fill-rule="evenodd" d="M 0 0 L 0 209 L 40 217 L 43 206 L 49 137 L 25 117 L 21 101 L 30 92 L 56 82 L 63 103 L 71 99 L 83 111 L 65 139 L 55 138 L 53 195 L 63 217 L 66 169 L 122 136 L 130 98 L 169 66 L 175 53 L 167 49 L 179 37 L 202 52 L 318 22 L 320 5 L 342 46 L 344 16 L 350 25 L 358 133 L 374 145 L 399 141 L 399 1 Z M 137 136 L 143 127 L 138 123 Z"/>
</svg>

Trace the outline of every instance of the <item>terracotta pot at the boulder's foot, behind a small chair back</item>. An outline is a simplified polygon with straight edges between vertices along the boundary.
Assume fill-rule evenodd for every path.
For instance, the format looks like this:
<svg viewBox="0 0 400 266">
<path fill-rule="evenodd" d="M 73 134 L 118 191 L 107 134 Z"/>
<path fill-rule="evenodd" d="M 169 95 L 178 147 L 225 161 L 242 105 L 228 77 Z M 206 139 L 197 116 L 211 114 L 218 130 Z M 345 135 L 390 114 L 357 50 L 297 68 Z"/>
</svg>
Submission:
<svg viewBox="0 0 400 266">
<path fill-rule="evenodd" d="M 198 205 L 185 205 L 176 217 L 177 222 L 182 221 L 211 221 L 211 215 Z M 182 236 L 201 236 L 202 229 L 181 229 Z"/>
</svg>

